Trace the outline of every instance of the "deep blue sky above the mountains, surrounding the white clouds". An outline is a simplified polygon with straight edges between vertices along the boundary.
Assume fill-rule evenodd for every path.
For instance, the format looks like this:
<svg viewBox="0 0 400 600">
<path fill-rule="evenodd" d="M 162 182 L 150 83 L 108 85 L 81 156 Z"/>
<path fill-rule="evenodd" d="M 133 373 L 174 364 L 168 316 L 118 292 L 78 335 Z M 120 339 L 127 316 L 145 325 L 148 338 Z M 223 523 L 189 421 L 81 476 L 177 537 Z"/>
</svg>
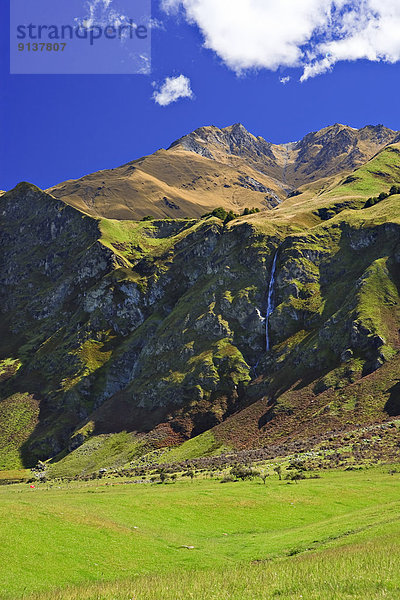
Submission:
<svg viewBox="0 0 400 600">
<path fill-rule="evenodd" d="M 305 0 L 312 1 L 328 0 Z M 242 122 L 272 142 L 297 140 L 335 122 L 353 127 L 383 123 L 400 130 L 395 53 L 390 55 L 393 64 L 376 56 L 366 60 L 369 47 L 352 61 L 347 47 L 332 45 L 333 55 L 329 51 L 320 59 L 320 48 L 315 51 L 314 46 L 313 68 L 317 65 L 321 74 L 301 83 L 304 64 L 288 58 L 293 46 L 286 46 L 283 58 L 272 59 L 268 47 L 249 54 L 244 40 L 241 54 L 234 37 L 224 39 L 225 46 L 219 43 L 218 31 L 209 28 L 203 14 L 189 23 L 187 13 L 166 14 L 160 1 L 153 0 L 153 18 L 162 27 L 152 31 L 149 75 L 10 75 L 7 4 L 2 2 L 0 9 L 0 189 L 22 180 L 46 188 L 118 166 L 167 147 L 202 125 Z M 264 62 L 256 69 L 258 51 Z M 247 64 L 250 69 L 243 69 Z M 180 75 L 190 80 L 193 97 L 158 105 L 152 98 L 154 82 L 160 87 L 165 78 Z M 290 81 L 281 83 L 283 77 Z"/>
</svg>

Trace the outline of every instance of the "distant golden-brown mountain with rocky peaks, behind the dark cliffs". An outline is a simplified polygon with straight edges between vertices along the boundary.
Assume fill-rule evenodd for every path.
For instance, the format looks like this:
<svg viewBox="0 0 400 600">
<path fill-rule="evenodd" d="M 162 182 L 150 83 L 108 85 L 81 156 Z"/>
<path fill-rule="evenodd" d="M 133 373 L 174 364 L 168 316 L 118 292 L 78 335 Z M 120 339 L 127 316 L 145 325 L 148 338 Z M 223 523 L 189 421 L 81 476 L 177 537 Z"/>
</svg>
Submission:
<svg viewBox="0 0 400 600">
<path fill-rule="evenodd" d="M 168 150 L 48 191 L 111 219 L 196 218 L 216 206 L 270 210 L 298 187 L 361 166 L 398 135 L 381 125 L 360 130 L 333 125 L 300 142 L 274 145 L 240 123 L 201 127 Z"/>
</svg>

